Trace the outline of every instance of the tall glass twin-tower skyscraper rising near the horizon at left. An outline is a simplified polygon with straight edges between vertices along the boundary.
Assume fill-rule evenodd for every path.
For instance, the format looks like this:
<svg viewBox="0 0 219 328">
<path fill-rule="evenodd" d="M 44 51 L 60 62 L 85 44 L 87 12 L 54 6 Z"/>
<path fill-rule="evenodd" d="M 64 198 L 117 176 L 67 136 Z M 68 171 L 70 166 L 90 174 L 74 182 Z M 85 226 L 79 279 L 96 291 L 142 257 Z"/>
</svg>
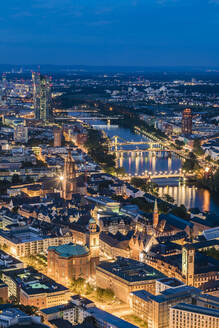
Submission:
<svg viewBox="0 0 219 328">
<path fill-rule="evenodd" d="M 32 80 L 35 118 L 37 120 L 49 121 L 52 119 L 50 78 L 33 72 Z"/>
</svg>

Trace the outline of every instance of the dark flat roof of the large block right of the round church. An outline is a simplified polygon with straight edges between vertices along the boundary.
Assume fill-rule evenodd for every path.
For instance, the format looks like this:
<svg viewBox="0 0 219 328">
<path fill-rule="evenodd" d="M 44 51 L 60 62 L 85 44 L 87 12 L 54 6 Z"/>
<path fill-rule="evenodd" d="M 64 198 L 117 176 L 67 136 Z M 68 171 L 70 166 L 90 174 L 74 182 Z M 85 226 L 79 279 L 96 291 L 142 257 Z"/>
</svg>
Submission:
<svg viewBox="0 0 219 328">
<path fill-rule="evenodd" d="M 118 257 L 115 262 L 102 262 L 97 266 L 97 270 L 101 271 L 101 269 L 127 282 L 156 280 L 165 277 L 161 272 L 145 263 L 124 257 Z"/>
</svg>

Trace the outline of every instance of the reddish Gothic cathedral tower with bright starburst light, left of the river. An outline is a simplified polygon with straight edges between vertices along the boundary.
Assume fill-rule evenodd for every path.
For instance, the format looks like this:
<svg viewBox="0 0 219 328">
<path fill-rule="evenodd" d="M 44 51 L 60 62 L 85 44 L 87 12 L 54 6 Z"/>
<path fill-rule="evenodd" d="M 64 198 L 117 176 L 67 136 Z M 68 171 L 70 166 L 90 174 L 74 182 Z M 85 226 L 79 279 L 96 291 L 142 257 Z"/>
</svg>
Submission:
<svg viewBox="0 0 219 328">
<path fill-rule="evenodd" d="M 64 163 L 64 179 L 62 185 L 62 198 L 66 200 L 72 199 L 72 194 L 76 192 L 76 169 L 75 162 L 71 156 L 71 150 L 68 149 L 68 155 L 65 157 Z"/>
</svg>

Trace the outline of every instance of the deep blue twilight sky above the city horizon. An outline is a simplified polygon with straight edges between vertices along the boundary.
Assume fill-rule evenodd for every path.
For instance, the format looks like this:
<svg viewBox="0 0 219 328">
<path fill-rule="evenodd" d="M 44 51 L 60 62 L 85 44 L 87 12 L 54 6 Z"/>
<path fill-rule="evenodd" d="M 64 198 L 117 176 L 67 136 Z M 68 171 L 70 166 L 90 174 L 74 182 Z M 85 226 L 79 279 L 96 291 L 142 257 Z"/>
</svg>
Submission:
<svg viewBox="0 0 219 328">
<path fill-rule="evenodd" d="M 219 0 L 1 0 L 0 63 L 219 66 Z"/>
</svg>

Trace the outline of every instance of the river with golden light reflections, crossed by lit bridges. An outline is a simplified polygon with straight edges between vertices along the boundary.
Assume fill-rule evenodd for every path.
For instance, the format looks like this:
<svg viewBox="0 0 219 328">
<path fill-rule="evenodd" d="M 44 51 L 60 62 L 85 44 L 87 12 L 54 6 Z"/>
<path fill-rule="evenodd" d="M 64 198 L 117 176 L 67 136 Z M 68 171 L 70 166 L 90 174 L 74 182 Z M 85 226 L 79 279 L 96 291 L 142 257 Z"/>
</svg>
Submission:
<svg viewBox="0 0 219 328">
<path fill-rule="evenodd" d="M 77 116 L 80 116 L 78 113 Z M 75 116 L 75 113 L 74 113 Z M 144 136 L 130 131 L 127 128 L 122 128 L 114 125 L 105 125 L 103 121 L 89 120 L 89 124 L 95 128 L 104 130 L 108 137 L 118 136 L 128 141 L 148 140 Z M 113 124 L 113 123 L 112 123 Z M 118 149 L 129 149 L 130 152 L 118 153 L 117 165 L 124 167 L 130 175 L 142 175 L 145 171 L 148 172 L 165 172 L 178 171 L 182 166 L 182 160 L 175 154 L 157 152 L 153 155 L 151 152 L 141 152 L 140 149 L 145 149 L 145 146 L 137 146 L 139 152 L 131 152 L 131 149 L 136 149 L 133 145 L 118 146 Z M 143 147 L 143 148 L 142 148 Z M 177 178 L 154 179 L 159 186 L 159 195 L 169 194 L 175 200 L 177 205 L 185 205 L 188 209 L 198 207 L 201 211 L 212 212 L 219 215 L 219 199 L 214 197 L 208 190 L 196 188 L 182 184 Z"/>
</svg>

